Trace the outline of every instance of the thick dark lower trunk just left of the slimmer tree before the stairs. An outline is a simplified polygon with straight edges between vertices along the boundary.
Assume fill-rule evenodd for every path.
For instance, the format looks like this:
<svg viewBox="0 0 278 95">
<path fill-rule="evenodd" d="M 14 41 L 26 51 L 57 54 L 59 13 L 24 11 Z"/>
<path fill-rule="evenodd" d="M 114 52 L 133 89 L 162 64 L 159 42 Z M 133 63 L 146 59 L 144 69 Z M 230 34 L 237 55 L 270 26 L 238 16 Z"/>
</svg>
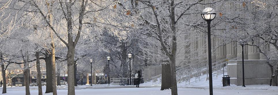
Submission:
<svg viewBox="0 0 278 95">
<path fill-rule="evenodd" d="M 170 64 L 162 64 L 162 72 L 161 72 L 161 89 L 167 90 L 171 88 L 171 66 Z"/>
</svg>

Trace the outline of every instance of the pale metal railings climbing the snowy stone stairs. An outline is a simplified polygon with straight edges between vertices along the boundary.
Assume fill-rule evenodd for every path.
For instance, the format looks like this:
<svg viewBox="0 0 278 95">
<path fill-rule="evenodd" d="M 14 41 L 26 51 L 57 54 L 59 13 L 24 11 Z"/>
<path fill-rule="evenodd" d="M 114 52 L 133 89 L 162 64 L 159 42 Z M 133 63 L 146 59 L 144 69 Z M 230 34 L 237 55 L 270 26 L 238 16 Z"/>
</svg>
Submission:
<svg viewBox="0 0 278 95">
<path fill-rule="evenodd" d="M 233 58 L 231 60 L 237 60 L 237 58 Z M 183 82 L 186 81 L 186 85 L 193 83 L 193 82 L 197 82 L 200 81 L 201 79 L 204 79 L 206 77 L 200 78 L 201 75 L 205 75 L 207 74 L 208 76 L 208 62 L 205 62 L 207 60 L 203 60 L 201 62 L 192 62 L 190 64 L 186 64 L 184 66 L 181 66 L 179 68 L 176 69 L 176 73 L 177 73 L 177 82 Z M 216 62 L 214 62 L 216 61 Z M 225 61 L 225 62 L 224 62 Z M 204 63 L 205 62 L 205 63 Z M 221 71 L 221 69 L 223 68 L 223 72 L 224 72 L 224 67 L 226 67 L 226 65 L 224 66 L 224 64 L 226 64 L 228 62 L 228 59 L 222 59 L 222 60 L 212 60 L 212 72 L 216 71 L 216 74 L 214 74 L 216 77 L 218 75 L 221 75 L 222 73 L 218 73 L 217 71 Z M 190 79 L 194 78 L 194 81 L 190 81 Z M 152 77 L 153 79 L 153 84 L 156 84 L 158 82 L 158 79 L 160 80 L 159 83 L 161 83 L 161 75 L 157 75 L 155 77 Z"/>
</svg>

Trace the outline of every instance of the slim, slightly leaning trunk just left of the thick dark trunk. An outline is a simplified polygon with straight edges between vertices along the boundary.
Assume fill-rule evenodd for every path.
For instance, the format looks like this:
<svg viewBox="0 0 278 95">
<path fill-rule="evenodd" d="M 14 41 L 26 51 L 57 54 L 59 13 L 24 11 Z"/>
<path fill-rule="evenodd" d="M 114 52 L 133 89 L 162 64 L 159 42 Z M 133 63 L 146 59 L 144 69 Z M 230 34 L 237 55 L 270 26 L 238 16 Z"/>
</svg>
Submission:
<svg viewBox="0 0 278 95">
<path fill-rule="evenodd" d="M 38 83 L 39 95 L 42 95 L 42 89 L 41 89 L 41 68 L 39 66 L 40 66 L 40 63 L 39 63 L 39 52 L 36 52 L 37 83 Z"/>
</svg>

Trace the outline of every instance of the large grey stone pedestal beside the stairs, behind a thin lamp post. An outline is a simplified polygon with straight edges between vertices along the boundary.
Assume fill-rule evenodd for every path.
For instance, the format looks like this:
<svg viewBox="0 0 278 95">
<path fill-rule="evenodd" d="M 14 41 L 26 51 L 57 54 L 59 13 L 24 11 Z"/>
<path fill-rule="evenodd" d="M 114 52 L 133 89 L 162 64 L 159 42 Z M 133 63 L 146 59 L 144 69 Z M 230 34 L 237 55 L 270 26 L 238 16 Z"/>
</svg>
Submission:
<svg viewBox="0 0 278 95">
<path fill-rule="evenodd" d="M 242 60 L 228 61 L 227 71 L 231 84 L 242 85 Z M 244 60 L 244 75 L 245 85 L 269 84 L 271 79 L 266 60 Z"/>
</svg>

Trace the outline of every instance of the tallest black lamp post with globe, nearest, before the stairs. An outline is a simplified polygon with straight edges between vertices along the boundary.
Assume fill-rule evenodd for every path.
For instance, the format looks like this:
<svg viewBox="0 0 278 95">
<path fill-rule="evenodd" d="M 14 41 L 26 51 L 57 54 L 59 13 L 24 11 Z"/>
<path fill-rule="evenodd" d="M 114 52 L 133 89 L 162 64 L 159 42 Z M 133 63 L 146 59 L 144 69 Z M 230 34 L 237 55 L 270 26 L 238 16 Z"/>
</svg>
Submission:
<svg viewBox="0 0 278 95">
<path fill-rule="evenodd" d="M 211 66 L 211 39 L 210 39 L 210 22 L 215 18 L 215 11 L 211 7 L 207 7 L 201 13 L 202 18 L 207 21 L 207 42 L 208 42 L 208 57 L 209 57 L 209 95 L 213 95 L 212 88 L 212 66 Z"/>
</svg>

